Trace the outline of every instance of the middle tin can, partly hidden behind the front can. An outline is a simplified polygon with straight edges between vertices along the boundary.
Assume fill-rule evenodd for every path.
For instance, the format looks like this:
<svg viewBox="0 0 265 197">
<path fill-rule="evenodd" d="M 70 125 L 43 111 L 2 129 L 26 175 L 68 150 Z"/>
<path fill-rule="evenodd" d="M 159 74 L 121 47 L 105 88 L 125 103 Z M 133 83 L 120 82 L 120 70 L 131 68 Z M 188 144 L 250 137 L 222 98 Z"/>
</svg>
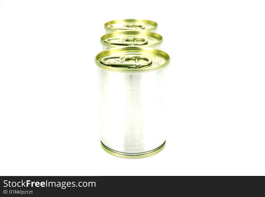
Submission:
<svg viewBox="0 0 265 197">
<path fill-rule="evenodd" d="M 100 38 L 102 49 L 122 46 L 141 46 L 160 49 L 163 37 L 148 31 L 122 31 L 105 34 Z"/>
</svg>

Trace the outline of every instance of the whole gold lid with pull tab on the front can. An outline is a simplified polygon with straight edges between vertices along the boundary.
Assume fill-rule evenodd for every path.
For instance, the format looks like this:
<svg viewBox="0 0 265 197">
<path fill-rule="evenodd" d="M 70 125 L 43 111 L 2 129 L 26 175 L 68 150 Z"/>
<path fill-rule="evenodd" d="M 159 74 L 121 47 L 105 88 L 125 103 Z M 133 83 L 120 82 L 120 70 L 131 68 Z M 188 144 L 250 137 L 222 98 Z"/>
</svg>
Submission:
<svg viewBox="0 0 265 197">
<path fill-rule="evenodd" d="M 169 65 L 170 56 L 149 47 L 119 47 L 104 50 L 95 56 L 98 67 L 115 72 L 146 72 Z"/>
</svg>

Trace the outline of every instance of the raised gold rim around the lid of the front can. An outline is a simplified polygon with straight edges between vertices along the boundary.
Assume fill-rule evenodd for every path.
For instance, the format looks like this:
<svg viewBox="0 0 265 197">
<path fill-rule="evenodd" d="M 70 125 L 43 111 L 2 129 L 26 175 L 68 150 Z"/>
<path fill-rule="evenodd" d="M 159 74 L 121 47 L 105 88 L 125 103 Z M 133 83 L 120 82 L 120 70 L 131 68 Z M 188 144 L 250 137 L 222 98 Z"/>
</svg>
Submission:
<svg viewBox="0 0 265 197">
<path fill-rule="evenodd" d="M 114 50 L 114 51 L 122 51 L 122 50 L 143 50 L 143 51 L 147 51 L 147 52 L 151 52 L 151 53 L 154 53 L 153 51 L 157 52 L 155 54 L 159 54 L 161 55 L 160 53 L 164 53 L 168 56 L 168 60 L 166 63 L 162 64 L 162 65 L 159 65 L 157 67 L 147 67 L 147 68 L 135 68 L 135 69 L 126 69 L 126 68 L 115 68 L 115 67 L 110 67 L 110 66 L 106 66 L 106 65 L 103 65 L 101 63 L 98 62 L 97 60 L 97 57 L 102 54 L 102 53 L 107 53 L 108 51 L 111 51 L 111 50 Z M 100 59 L 100 58 L 99 58 Z M 150 47 L 115 47 L 115 48 L 111 48 L 111 49 L 107 49 L 107 50 L 104 50 L 104 51 L 101 51 L 100 53 L 98 53 L 96 56 L 95 56 L 95 63 L 98 67 L 104 69 L 104 70 L 108 70 L 108 71 L 114 71 L 114 72 L 122 72 L 122 73 L 131 73 L 131 72 L 149 72 L 149 71 L 156 71 L 156 70 L 160 70 L 162 68 L 165 68 L 167 65 L 169 65 L 170 63 L 170 56 L 162 51 L 162 50 L 159 50 L 159 49 L 154 49 L 154 48 L 150 48 Z"/>
</svg>

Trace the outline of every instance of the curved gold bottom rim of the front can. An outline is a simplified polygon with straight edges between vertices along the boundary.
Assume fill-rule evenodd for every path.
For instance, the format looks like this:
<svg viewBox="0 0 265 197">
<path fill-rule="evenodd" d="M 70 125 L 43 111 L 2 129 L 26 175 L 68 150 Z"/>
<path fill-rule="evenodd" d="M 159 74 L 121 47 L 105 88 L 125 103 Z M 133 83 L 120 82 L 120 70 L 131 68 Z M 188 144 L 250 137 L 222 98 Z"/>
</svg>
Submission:
<svg viewBox="0 0 265 197">
<path fill-rule="evenodd" d="M 109 147 L 107 147 L 106 145 L 104 145 L 101 141 L 101 147 L 103 148 L 103 150 L 105 150 L 107 153 L 116 156 L 116 157 L 120 157 L 120 158 L 125 158 L 125 159 L 140 159 L 140 158 L 145 158 L 145 157 L 150 157 L 155 155 L 156 153 L 159 153 L 161 150 L 163 150 L 163 148 L 166 145 L 166 141 L 164 141 L 164 143 L 155 148 L 154 150 L 150 150 L 147 152 L 143 152 L 143 153 L 123 153 L 123 152 L 119 152 L 116 150 L 113 150 Z"/>
</svg>

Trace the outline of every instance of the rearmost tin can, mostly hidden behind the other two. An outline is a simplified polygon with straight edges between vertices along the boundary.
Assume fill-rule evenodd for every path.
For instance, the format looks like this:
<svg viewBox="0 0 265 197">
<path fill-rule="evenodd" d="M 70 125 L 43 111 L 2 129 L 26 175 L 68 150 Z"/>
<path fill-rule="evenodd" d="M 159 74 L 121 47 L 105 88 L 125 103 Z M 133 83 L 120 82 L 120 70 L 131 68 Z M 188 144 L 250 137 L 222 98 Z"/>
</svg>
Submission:
<svg viewBox="0 0 265 197">
<path fill-rule="evenodd" d="M 123 19 L 112 20 L 104 24 L 104 28 L 107 33 L 124 30 L 144 30 L 149 32 L 155 32 L 157 29 L 157 23 L 151 20 L 139 20 L 139 19 Z"/>
</svg>

